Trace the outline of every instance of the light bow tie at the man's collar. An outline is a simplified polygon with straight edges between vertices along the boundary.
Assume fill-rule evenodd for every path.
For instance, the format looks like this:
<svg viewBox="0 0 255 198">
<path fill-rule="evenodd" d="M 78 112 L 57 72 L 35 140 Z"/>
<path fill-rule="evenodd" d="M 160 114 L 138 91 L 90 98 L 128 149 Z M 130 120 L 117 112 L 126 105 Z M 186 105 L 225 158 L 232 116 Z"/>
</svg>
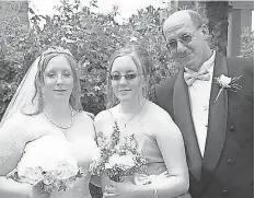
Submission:
<svg viewBox="0 0 255 198">
<path fill-rule="evenodd" d="M 210 73 L 208 70 L 201 70 L 198 72 L 184 72 L 184 80 L 188 86 L 190 86 L 196 80 L 209 81 Z"/>
</svg>

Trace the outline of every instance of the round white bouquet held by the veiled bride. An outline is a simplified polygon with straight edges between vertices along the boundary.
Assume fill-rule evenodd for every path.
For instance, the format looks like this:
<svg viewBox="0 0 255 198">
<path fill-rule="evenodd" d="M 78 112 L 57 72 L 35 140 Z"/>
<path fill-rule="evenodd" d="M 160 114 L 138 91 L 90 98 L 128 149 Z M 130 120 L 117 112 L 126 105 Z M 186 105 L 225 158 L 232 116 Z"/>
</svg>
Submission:
<svg viewBox="0 0 255 198">
<path fill-rule="evenodd" d="M 72 188 L 81 171 L 65 138 L 44 136 L 26 144 L 16 168 L 8 176 L 50 194 Z"/>
</svg>

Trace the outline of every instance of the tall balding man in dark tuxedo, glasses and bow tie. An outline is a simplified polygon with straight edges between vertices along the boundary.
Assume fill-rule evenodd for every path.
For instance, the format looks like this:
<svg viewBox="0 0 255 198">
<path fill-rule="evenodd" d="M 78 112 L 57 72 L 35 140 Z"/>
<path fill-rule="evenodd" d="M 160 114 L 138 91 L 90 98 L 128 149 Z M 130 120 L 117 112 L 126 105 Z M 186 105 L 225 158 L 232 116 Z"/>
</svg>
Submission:
<svg viewBox="0 0 255 198">
<path fill-rule="evenodd" d="M 183 133 L 189 193 L 193 198 L 252 198 L 253 60 L 210 49 L 209 31 L 192 10 L 171 14 L 163 34 L 171 56 L 183 68 L 155 88 L 153 100 Z M 222 74 L 225 78 L 219 80 Z"/>
</svg>

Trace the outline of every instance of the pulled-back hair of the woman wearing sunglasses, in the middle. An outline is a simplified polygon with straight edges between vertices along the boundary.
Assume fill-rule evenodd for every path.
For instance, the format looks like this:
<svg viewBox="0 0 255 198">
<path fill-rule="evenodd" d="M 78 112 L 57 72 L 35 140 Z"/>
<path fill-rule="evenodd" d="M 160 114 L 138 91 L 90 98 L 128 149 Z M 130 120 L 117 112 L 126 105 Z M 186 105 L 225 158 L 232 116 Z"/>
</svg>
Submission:
<svg viewBox="0 0 255 198">
<path fill-rule="evenodd" d="M 111 72 L 115 59 L 124 56 L 129 56 L 132 59 L 134 63 L 136 65 L 138 71 L 141 72 L 146 82 L 146 86 L 143 88 L 144 89 L 143 94 L 144 96 L 147 96 L 148 94 L 150 73 L 152 69 L 152 61 L 150 59 L 149 53 L 141 45 L 127 45 L 116 50 L 111 57 L 108 62 L 108 75 L 107 75 L 107 85 L 106 85 L 107 108 L 111 108 L 116 104 L 118 104 L 118 100 L 115 96 L 112 88 Z"/>
</svg>

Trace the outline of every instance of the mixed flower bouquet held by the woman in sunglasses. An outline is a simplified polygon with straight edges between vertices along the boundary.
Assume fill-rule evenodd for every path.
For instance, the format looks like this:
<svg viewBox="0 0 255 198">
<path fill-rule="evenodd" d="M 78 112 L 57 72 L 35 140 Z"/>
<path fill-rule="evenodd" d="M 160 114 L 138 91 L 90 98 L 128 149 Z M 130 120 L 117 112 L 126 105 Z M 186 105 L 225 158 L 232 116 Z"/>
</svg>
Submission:
<svg viewBox="0 0 255 198">
<path fill-rule="evenodd" d="M 112 180 L 123 182 L 125 176 L 146 171 L 147 160 L 138 152 L 135 135 L 120 138 L 115 121 L 109 139 L 97 133 L 98 150 L 89 171 L 92 175 L 106 174 Z"/>
</svg>

